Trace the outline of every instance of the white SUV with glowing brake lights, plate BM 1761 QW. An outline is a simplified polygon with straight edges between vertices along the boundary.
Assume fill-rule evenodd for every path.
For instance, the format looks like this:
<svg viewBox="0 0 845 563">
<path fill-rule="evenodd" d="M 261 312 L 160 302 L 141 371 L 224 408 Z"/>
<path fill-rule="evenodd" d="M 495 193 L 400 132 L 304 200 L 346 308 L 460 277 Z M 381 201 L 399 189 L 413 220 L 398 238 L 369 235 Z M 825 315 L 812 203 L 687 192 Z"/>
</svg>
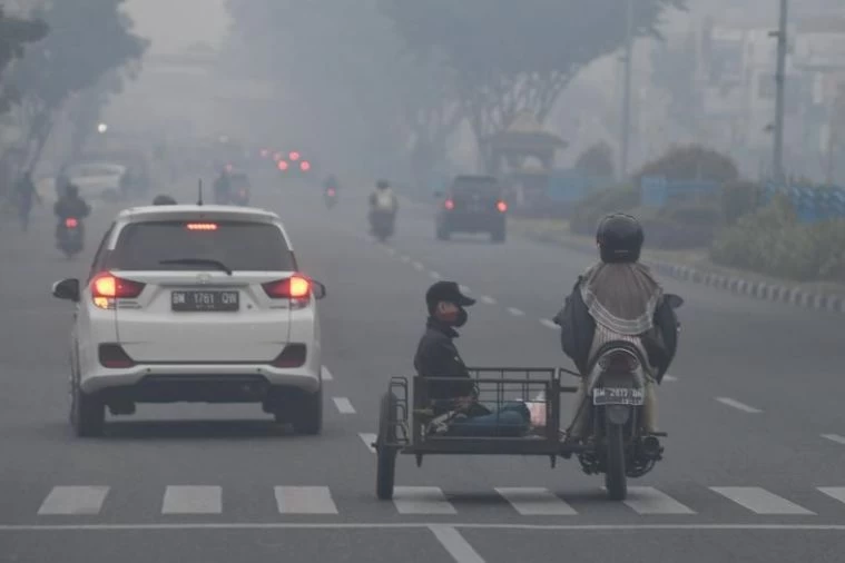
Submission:
<svg viewBox="0 0 845 563">
<path fill-rule="evenodd" d="M 262 403 L 318 434 L 320 322 L 325 287 L 299 274 L 278 216 L 174 205 L 118 215 L 89 279 L 53 285 L 77 304 L 71 414 L 100 435 L 105 408 L 136 403 Z"/>
</svg>

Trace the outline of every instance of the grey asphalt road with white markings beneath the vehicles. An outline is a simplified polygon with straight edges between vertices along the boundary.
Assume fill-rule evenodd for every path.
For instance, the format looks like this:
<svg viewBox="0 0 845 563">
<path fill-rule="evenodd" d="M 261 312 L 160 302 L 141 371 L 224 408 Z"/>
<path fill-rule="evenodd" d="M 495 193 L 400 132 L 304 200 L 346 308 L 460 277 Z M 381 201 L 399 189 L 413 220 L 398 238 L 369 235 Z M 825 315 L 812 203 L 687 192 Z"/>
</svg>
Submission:
<svg viewBox="0 0 845 563">
<path fill-rule="evenodd" d="M 303 269 L 323 282 L 325 428 L 288 435 L 257 406 L 141 406 L 107 436 L 68 418 L 69 304 L 50 284 L 87 273 L 117 207 L 68 261 L 41 211 L 0 228 L 0 561 L 505 563 L 845 560 L 842 317 L 665 280 L 681 349 L 659 391 L 666 460 L 626 503 L 577 462 L 401 457 L 375 498 L 380 394 L 410 375 L 423 294 L 454 279 L 480 299 L 459 346 L 479 365 L 568 365 L 548 319 L 591 257 L 511 237 L 434 239 L 403 203 L 387 245 L 366 235 L 364 192 L 261 178 Z M 193 191 L 184 186 L 180 198 Z"/>
</svg>

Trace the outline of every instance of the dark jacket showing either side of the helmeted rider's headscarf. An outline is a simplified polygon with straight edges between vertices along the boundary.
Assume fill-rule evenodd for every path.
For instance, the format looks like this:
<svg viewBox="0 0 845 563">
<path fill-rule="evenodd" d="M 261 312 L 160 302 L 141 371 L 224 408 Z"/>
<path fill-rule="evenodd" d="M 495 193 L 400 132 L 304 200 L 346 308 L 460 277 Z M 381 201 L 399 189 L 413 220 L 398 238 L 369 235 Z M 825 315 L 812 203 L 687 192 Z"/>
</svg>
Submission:
<svg viewBox="0 0 845 563">
<path fill-rule="evenodd" d="M 581 298 L 581 280 L 582 277 L 579 276 L 554 322 L 560 325 L 560 345 L 563 353 L 572 358 L 581 375 L 586 375 L 596 334 L 596 320 Z M 652 332 L 642 336 L 642 344 L 649 363 L 657 368 L 655 378 L 660 383 L 678 350 L 678 317 L 666 296 L 657 305 L 654 325 Z"/>
</svg>

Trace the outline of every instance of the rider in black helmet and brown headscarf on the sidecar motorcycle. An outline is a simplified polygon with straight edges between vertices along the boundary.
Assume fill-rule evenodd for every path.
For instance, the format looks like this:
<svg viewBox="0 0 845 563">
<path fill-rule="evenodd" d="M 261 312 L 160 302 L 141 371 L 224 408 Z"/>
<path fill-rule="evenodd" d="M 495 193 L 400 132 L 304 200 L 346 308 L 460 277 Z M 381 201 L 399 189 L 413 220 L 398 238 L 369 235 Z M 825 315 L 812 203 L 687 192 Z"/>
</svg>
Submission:
<svg viewBox="0 0 845 563">
<path fill-rule="evenodd" d="M 568 441 L 584 439 L 588 424 L 588 377 L 597 353 L 608 343 L 627 342 L 646 359 L 643 429 L 657 432 L 659 384 L 677 350 L 678 319 L 650 269 L 639 261 L 645 236 L 639 221 L 625 214 L 605 217 L 596 243 L 600 261 L 579 276 L 563 309 L 561 347 L 581 374 Z"/>
</svg>

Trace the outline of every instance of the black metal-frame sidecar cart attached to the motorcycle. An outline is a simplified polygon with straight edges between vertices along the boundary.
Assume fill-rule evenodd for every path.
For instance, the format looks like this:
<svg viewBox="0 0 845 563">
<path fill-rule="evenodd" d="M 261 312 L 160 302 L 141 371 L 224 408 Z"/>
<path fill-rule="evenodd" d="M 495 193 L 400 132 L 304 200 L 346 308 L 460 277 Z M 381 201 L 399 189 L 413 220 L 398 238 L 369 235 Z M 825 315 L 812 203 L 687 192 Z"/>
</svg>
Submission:
<svg viewBox="0 0 845 563">
<path fill-rule="evenodd" d="M 554 466 L 558 456 L 569 456 L 583 450 L 579 444 L 564 443 L 560 432 L 560 395 L 576 393 L 577 386 L 560 383 L 561 368 L 473 367 L 471 379 L 454 377 L 412 376 L 413 404 L 409 409 L 409 377 L 392 377 L 382 396 L 379 412 L 376 451 L 376 494 L 393 497 L 396 455 L 416 456 L 417 467 L 423 456 L 431 454 L 466 455 L 542 455 Z M 488 414 L 474 418 L 455 415 L 454 402 L 444 405 L 431 401 L 436 385 L 474 387 L 476 402 Z M 441 387 L 442 388 L 442 387 Z M 454 395 L 452 395 L 454 396 Z M 513 413 L 522 413 L 514 417 Z M 524 424 L 529 413 L 531 424 Z M 483 414 L 483 413 L 482 413 Z M 515 418 L 515 422 L 514 422 Z M 478 421 L 478 423 L 476 423 Z"/>
</svg>

